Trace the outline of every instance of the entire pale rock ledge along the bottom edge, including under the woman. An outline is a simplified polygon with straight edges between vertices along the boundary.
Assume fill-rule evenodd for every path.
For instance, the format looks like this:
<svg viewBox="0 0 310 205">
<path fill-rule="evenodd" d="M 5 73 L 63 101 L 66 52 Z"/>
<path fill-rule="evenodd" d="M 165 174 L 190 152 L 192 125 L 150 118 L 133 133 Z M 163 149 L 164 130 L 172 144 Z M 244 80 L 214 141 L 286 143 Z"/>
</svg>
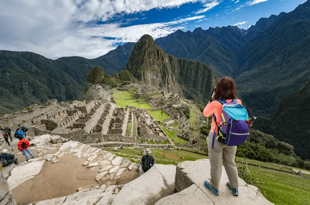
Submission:
<svg viewBox="0 0 310 205">
<path fill-rule="evenodd" d="M 112 163 L 119 164 L 119 158 Z M 209 159 L 201 159 L 185 161 L 177 166 L 155 164 L 124 186 L 80 188 L 75 194 L 32 205 L 272 205 L 256 187 L 247 185 L 240 178 L 240 195 L 233 196 L 225 187 L 228 178 L 224 170 L 219 196 L 204 188 L 203 181 L 210 175 L 210 162 Z"/>
</svg>

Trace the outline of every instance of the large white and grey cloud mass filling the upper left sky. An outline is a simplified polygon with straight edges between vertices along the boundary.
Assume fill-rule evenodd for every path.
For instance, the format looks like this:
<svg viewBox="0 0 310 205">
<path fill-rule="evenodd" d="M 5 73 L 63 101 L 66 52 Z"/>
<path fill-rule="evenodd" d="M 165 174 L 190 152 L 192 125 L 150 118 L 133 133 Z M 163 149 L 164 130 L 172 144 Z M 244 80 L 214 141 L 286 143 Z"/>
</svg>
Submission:
<svg viewBox="0 0 310 205">
<path fill-rule="evenodd" d="M 116 44 L 137 41 L 146 33 L 162 37 L 186 29 L 187 21 L 205 16 L 130 27 L 121 23 L 99 25 L 98 20 L 206 1 L 0 0 L 0 49 L 31 51 L 48 58 L 74 55 L 95 58 L 114 49 Z"/>
</svg>

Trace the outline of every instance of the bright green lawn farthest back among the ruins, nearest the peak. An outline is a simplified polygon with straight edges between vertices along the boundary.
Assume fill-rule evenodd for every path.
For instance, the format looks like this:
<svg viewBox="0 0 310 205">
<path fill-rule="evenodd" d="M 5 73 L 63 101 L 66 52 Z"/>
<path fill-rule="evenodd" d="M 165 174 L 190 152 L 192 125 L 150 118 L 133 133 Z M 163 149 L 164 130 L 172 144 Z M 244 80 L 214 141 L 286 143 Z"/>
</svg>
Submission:
<svg viewBox="0 0 310 205">
<path fill-rule="evenodd" d="M 127 105 L 129 106 L 134 106 L 136 108 L 142 108 L 142 109 L 151 109 L 153 108 L 150 104 L 148 103 L 138 103 L 136 99 L 134 99 L 130 93 L 127 91 L 119 91 L 115 94 L 112 95 L 114 98 L 116 104 L 121 106 L 122 108 L 125 108 Z M 125 100 L 125 99 L 130 99 L 130 100 Z"/>
</svg>

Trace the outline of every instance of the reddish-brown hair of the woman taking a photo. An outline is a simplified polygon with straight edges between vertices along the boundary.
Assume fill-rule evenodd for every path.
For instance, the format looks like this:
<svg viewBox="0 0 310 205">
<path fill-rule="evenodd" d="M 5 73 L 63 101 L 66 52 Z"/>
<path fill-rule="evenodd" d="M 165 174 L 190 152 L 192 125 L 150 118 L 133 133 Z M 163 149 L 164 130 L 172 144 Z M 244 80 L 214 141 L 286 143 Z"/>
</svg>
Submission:
<svg viewBox="0 0 310 205">
<path fill-rule="evenodd" d="M 216 100 L 228 100 L 228 99 L 236 99 L 236 86 L 232 78 L 223 77 L 218 80 L 217 88 L 215 90 Z"/>
</svg>

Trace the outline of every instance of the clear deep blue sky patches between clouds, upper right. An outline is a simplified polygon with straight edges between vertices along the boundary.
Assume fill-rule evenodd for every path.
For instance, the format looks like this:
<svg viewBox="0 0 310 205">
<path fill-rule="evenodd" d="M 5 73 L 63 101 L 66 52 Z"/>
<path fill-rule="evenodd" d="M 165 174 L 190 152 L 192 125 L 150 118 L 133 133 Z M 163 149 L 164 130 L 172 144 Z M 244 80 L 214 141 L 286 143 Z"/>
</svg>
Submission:
<svg viewBox="0 0 310 205">
<path fill-rule="evenodd" d="M 216 2 L 216 0 L 214 1 Z M 99 23 L 122 21 L 123 27 L 127 27 L 137 24 L 169 22 L 182 17 L 203 15 L 205 17 L 202 19 L 188 21 L 186 29 L 183 30 L 193 31 L 197 27 L 208 29 L 209 27 L 234 25 L 239 22 L 247 22 L 238 25 L 238 27 L 248 29 L 250 25 L 255 25 L 261 17 L 269 17 L 272 14 L 279 15 L 281 12 L 291 12 L 306 0 L 262 0 L 260 3 L 248 6 L 247 2 L 251 2 L 250 0 L 218 0 L 217 2 L 219 2 L 217 6 L 197 15 L 195 12 L 204 8 L 202 2 L 185 3 L 176 8 L 152 9 Z"/>
</svg>

